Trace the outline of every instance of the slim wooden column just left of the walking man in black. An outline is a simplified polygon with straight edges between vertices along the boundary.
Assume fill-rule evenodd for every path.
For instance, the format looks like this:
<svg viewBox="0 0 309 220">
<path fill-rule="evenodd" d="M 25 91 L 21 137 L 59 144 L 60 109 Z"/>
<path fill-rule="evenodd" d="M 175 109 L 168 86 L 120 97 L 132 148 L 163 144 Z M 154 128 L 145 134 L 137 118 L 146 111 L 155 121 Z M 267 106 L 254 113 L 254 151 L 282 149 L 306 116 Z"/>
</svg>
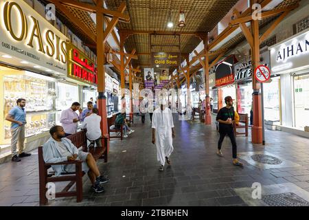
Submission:
<svg viewBox="0 0 309 220">
<path fill-rule="evenodd" d="M 211 124 L 211 115 L 210 115 L 210 98 L 209 98 L 209 54 L 208 54 L 208 34 L 205 34 L 204 41 L 204 52 L 205 52 L 205 65 L 204 74 L 205 74 L 205 124 Z"/>
</svg>

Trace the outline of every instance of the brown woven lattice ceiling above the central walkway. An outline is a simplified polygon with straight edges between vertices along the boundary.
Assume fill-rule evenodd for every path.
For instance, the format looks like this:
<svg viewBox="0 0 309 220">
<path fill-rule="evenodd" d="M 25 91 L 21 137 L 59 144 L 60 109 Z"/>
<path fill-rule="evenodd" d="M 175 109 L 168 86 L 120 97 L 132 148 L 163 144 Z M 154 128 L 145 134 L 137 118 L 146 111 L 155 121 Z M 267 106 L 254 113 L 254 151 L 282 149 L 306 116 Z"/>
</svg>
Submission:
<svg viewBox="0 0 309 220">
<path fill-rule="evenodd" d="M 225 14 L 235 5 L 238 0 L 130 0 L 126 1 L 126 13 L 130 15 L 130 23 L 118 23 L 118 30 L 140 30 L 140 31 L 172 31 L 172 32 L 209 32 Z M 122 0 L 106 0 L 110 10 L 117 10 Z M 185 28 L 177 26 L 179 11 L 185 12 Z M 174 23 L 174 28 L 168 28 L 169 20 Z M 151 36 L 153 38 L 153 36 Z M 134 48 L 139 53 L 150 52 L 179 52 L 176 46 L 152 47 L 150 50 L 150 36 L 139 34 L 130 36 L 125 43 L 126 51 Z M 152 44 L 179 45 L 179 39 L 174 41 L 174 36 L 155 36 Z M 196 36 L 180 37 L 181 53 L 189 54 L 201 42 Z M 148 56 L 139 56 L 138 61 L 133 63 L 139 65 L 149 64 Z"/>
</svg>

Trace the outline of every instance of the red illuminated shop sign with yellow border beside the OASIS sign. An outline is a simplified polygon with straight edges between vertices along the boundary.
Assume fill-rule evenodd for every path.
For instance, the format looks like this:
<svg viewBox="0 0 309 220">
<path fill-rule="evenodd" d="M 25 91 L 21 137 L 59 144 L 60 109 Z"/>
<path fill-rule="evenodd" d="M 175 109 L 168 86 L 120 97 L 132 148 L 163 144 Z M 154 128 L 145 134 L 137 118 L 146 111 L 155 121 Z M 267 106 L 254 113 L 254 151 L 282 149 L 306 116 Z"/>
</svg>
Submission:
<svg viewBox="0 0 309 220">
<path fill-rule="evenodd" d="M 97 68 L 94 62 L 85 56 L 75 46 L 69 45 L 69 78 L 80 80 L 83 83 L 98 84 Z"/>
</svg>

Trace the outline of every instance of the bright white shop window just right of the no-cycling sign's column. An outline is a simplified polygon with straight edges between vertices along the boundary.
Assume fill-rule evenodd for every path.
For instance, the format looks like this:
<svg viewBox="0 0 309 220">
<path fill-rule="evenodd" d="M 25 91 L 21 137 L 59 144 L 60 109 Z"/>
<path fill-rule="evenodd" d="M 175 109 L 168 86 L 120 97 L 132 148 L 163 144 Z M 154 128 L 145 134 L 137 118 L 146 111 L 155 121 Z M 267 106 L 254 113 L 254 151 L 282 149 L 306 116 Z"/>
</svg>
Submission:
<svg viewBox="0 0 309 220">
<path fill-rule="evenodd" d="M 280 121 L 279 77 L 271 78 L 271 83 L 263 83 L 264 119 L 271 122 Z"/>
</svg>

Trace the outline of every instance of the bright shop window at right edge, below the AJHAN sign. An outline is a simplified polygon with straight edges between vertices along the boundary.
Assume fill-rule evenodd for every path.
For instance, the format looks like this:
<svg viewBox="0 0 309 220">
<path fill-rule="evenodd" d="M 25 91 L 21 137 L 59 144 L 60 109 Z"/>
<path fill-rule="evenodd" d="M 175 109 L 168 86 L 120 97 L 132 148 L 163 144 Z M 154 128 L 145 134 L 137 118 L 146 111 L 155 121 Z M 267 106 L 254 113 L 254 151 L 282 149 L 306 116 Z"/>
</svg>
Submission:
<svg viewBox="0 0 309 220">
<path fill-rule="evenodd" d="M 309 126 L 309 74 L 294 77 L 295 126 Z"/>
</svg>

